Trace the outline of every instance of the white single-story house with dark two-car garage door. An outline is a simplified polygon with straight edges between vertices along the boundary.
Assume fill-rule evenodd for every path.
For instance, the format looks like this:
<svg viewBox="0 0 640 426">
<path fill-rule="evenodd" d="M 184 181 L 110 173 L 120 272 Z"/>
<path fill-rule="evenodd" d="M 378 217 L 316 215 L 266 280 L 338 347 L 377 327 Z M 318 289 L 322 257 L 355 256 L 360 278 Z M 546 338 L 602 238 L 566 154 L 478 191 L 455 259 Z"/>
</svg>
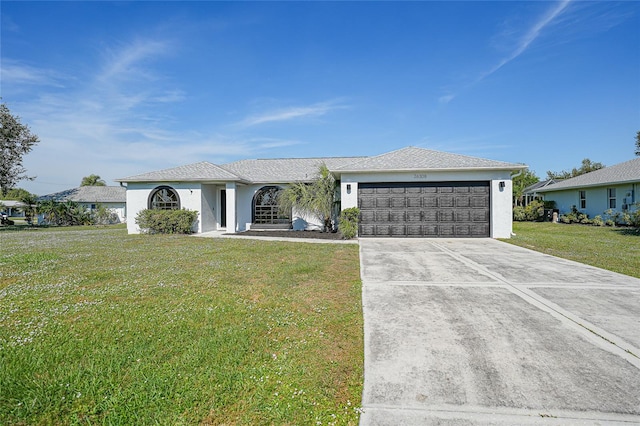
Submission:
<svg viewBox="0 0 640 426">
<path fill-rule="evenodd" d="M 511 173 L 527 166 L 407 147 L 373 157 L 200 162 L 116 179 L 131 217 L 147 208 L 199 212 L 194 231 L 319 228 L 318 218 L 282 215 L 277 193 L 309 182 L 325 164 L 339 182 L 341 209 L 359 207 L 360 237 L 508 238 Z M 129 233 L 139 233 L 134 220 Z"/>
</svg>

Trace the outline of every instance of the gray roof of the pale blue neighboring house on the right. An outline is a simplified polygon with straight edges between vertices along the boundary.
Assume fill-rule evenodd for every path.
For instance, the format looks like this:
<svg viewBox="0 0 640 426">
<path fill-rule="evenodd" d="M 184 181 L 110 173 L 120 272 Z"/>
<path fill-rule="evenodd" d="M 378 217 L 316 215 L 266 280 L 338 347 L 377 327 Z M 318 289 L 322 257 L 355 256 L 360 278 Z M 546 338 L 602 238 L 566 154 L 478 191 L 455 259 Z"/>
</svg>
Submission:
<svg viewBox="0 0 640 426">
<path fill-rule="evenodd" d="M 625 161 L 541 188 L 538 192 L 640 182 L 640 158 Z"/>
</svg>

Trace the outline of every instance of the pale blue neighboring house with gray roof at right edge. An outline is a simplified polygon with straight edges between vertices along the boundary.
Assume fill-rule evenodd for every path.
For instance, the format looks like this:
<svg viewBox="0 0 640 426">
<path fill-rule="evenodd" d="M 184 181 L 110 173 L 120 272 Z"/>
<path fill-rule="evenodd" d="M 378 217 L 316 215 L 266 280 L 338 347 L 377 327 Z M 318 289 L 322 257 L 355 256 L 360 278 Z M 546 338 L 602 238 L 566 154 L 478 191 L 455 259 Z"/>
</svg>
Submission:
<svg viewBox="0 0 640 426">
<path fill-rule="evenodd" d="M 640 158 L 585 173 L 553 185 L 539 188 L 546 201 L 555 201 L 560 213 L 569 213 L 575 206 L 589 217 L 638 209 L 640 189 Z"/>
</svg>

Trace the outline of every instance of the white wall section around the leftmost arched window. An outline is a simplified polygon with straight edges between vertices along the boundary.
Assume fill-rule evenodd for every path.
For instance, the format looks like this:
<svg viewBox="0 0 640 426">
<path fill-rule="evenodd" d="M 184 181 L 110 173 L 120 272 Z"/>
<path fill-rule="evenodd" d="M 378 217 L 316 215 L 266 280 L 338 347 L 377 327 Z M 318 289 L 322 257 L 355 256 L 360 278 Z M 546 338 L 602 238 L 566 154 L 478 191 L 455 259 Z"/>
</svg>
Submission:
<svg viewBox="0 0 640 426">
<path fill-rule="evenodd" d="M 127 185 L 127 210 L 129 220 L 127 220 L 127 231 L 129 234 L 139 234 L 140 228 L 136 225 L 135 218 L 141 210 L 148 208 L 149 195 L 159 186 L 173 188 L 180 198 L 180 208 L 195 210 L 198 218 L 194 224 L 195 232 L 202 232 L 202 189 L 199 183 L 136 183 L 130 182 Z"/>
</svg>

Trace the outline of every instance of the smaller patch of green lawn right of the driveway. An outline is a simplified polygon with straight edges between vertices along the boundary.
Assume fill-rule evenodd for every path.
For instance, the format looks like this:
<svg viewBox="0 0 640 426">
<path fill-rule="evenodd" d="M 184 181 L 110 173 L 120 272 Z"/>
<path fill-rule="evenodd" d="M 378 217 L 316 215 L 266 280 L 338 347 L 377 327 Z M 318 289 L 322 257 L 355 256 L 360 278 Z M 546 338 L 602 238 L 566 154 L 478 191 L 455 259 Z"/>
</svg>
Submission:
<svg viewBox="0 0 640 426">
<path fill-rule="evenodd" d="M 505 242 L 640 278 L 640 230 L 514 222 Z"/>
</svg>

